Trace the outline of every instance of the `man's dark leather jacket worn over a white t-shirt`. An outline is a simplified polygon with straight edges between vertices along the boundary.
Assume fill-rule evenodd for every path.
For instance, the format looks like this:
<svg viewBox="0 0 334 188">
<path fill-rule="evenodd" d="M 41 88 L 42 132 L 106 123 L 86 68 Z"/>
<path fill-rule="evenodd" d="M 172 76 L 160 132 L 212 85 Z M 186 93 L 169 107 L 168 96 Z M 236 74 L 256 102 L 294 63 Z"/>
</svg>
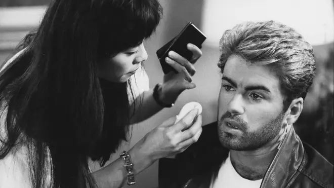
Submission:
<svg viewBox="0 0 334 188">
<path fill-rule="evenodd" d="M 207 140 L 198 140 L 200 143 L 193 144 L 193 148 L 189 148 L 189 151 L 187 149 L 188 154 L 181 154 L 176 158 L 178 161 L 185 161 L 185 159 L 192 157 L 195 159 L 192 165 L 203 163 L 199 165 L 197 170 L 196 167 L 193 168 L 193 173 L 188 174 L 188 180 L 183 181 L 181 187 L 210 187 L 212 180 L 216 179 L 218 175 L 222 162 L 227 158 L 228 149 L 217 145 L 219 139 L 217 122 L 208 126 L 211 127 L 207 127 L 207 129 L 211 130 L 207 130 L 206 134 L 210 133 L 210 135 L 204 135 Z M 210 145 L 213 147 L 208 147 Z M 216 148 L 216 150 L 213 148 Z M 205 154 L 198 155 L 199 150 L 202 150 Z M 206 158 L 203 156 L 206 156 Z M 194 162 L 196 158 L 197 162 Z M 309 144 L 302 142 L 294 127 L 291 127 L 268 167 L 261 187 L 333 187 L 333 165 Z"/>
</svg>

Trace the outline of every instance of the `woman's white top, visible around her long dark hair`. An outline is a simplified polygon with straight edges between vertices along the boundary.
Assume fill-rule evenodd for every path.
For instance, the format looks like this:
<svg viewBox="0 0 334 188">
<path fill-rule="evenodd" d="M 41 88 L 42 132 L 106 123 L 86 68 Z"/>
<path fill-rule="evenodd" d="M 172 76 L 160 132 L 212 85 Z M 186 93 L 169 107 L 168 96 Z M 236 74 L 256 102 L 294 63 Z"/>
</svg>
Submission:
<svg viewBox="0 0 334 188">
<path fill-rule="evenodd" d="M 15 58 L 21 53 L 20 51 L 2 67 L 0 72 L 8 66 Z M 132 88 L 134 91 L 135 98 L 142 94 L 144 91 L 149 90 L 149 79 L 145 69 L 139 69 L 130 78 L 132 80 Z M 132 97 L 129 95 L 130 102 Z M 7 130 L 5 127 L 5 121 L 7 116 L 7 109 L 0 106 L 0 136 L 4 140 L 7 137 Z M 0 146 L 1 146 L 0 142 Z M 123 146 L 124 147 L 124 146 Z M 2 160 L 0 160 L 0 188 L 31 188 L 32 184 L 30 181 L 30 169 L 29 162 L 27 160 L 27 145 L 15 146 L 12 151 Z M 118 158 L 118 156 L 117 156 Z M 50 162 L 50 158 L 48 158 Z M 112 160 L 112 159 L 111 159 Z M 110 163 L 110 162 L 109 162 Z M 89 165 L 94 166 L 97 162 L 89 161 Z M 48 170 L 47 170 L 48 171 Z M 50 182 L 50 171 L 48 175 L 48 181 Z M 47 185 L 48 187 L 48 185 Z"/>
</svg>

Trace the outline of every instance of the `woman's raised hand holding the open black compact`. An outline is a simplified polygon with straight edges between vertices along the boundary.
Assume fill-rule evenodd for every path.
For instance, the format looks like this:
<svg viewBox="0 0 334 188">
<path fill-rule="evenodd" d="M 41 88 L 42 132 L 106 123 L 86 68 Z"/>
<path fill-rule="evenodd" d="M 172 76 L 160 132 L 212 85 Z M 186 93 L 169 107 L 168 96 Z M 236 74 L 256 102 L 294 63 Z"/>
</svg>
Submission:
<svg viewBox="0 0 334 188">
<path fill-rule="evenodd" d="M 191 83 L 192 76 L 196 72 L 193 64 L 201 57 L 202 51 L 193 44 L 188 44 L 187 49 L 193 54 L 190 61 L 174 51 L 170 51 L 169 56 L 165 59 L 166 63 L 178 71 L 178 73 L 171 71 L 163 77 L 159 96 L 165 104 L 174 103 L 184 90 L 196 87 L 194 83 Z"/>
</svg>

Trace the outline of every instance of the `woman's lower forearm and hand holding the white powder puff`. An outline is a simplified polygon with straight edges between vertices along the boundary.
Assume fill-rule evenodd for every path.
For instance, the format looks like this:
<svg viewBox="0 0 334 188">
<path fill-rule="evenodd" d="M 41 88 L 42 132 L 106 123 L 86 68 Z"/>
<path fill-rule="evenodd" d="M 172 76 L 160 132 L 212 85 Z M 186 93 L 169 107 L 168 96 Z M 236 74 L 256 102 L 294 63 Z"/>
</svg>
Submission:
<svg viewBox="0 0 334 188">
<path fill-rule="evenodd" d="M 133 163 L 135 178 L 156 160 L 183 152 L 198 140 L 202 132 L 202 117 L 198 113 L 198 110 L 194 109 L 176 124 L 176 117 L 164 121 L 130 149 L 128 153 Z M 106 167 L 93 172 L 98 187 L 113 188 L 126 184 L 127 176 L 123 165 L 123 159 L 118 158 Z"/>
</svg>

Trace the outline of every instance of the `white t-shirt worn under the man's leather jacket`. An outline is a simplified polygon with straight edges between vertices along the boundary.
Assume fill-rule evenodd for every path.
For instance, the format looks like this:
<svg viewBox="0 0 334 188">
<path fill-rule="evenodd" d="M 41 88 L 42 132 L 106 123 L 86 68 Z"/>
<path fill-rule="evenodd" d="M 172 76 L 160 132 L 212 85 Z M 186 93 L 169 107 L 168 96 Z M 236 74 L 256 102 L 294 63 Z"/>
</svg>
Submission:
<svg viewBox="0 0 334 188">
<path fill-rule="evenodd" d="M 220 167 L 218 172 L 218 176 L 216 180 L 211 184 L 212 188 L 259 188 L 261 186 L 262 179 L 259 180 L 248 180 L 241 177 L 238 172 L 234 169 L 231 159 L 230 153 L 226 161 Z"/>
</svg>

